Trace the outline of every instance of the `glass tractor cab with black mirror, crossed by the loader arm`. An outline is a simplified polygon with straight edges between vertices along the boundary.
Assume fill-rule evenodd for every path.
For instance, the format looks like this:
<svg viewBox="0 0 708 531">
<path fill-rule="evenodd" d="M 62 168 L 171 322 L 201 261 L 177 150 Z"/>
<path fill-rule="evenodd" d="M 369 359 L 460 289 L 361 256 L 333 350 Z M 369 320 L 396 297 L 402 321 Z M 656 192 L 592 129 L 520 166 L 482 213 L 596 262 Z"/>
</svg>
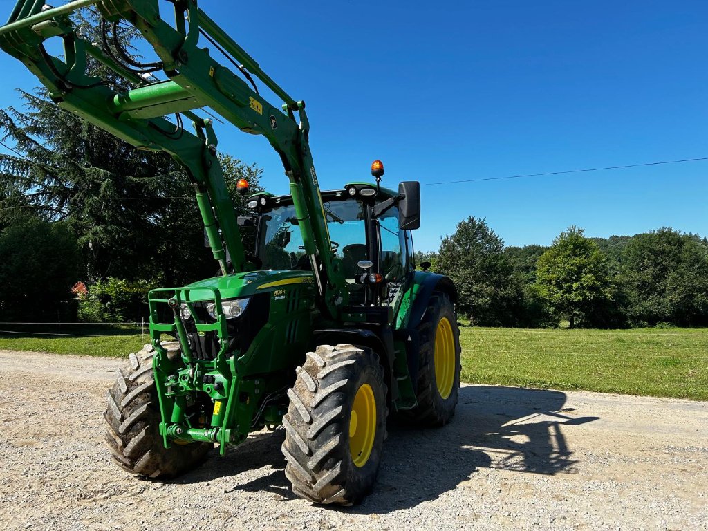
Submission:
<svg viewBox="0 0 708 531">
<path fill-rule="evenodd" d="M 321 195 L 332 251 L 346 278 L 350 305 L 394 305 L 415 269 L 411 229 L 419 224 L 418 183 L 401 183 L 399 193 L 372 183 L 348 183 L 342 190 Z M 412 202 L 414 208 L 409 206 Z M 246 204 L 252 211 L 253 254 L 260 267 L 312 270 L 292 196 L 258 193 Z M 416 210 L 415 219 L 402 215 L 404 207 Z"/>
</svg>

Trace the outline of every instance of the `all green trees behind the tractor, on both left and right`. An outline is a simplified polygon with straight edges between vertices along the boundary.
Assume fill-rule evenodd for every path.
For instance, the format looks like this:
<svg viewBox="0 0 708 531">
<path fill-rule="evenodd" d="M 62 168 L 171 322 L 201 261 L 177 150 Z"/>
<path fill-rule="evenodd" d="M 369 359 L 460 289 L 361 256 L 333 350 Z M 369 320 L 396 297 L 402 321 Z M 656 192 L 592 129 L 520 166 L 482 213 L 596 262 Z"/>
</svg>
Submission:
<svg viewBox="0 0 708 531">
<path fill-rule="evenodd" d="M 193 189 L 165 154 L 131 147 L 21 93 L 0 110 L 0 312 L 4 321 L 121 321 L 145 314 L 152 287 L 215 273 Z M 260 190 L 261 169 L 221 157 L 234 208 L 236 181 Z M 455 281 L 459 314 L 480 326 L 706 326 L 708 240 L 661 228 L 588 238 L 578 227 L 552 246 L 505 246 L 469 217 L 437 253 L 417 253 Z M 83 281 L 87 290 L 68 288 Z M 79 304 L 76 307 L 76 304 Z"/>
</svg>

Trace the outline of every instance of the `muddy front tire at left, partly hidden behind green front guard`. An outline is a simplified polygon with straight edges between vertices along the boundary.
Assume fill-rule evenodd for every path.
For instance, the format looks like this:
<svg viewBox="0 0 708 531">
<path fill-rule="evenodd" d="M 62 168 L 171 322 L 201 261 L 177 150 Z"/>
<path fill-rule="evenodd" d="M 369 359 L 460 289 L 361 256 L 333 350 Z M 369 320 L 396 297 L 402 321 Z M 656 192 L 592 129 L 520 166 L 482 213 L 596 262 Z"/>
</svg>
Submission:
<svg viewBox="0 0 708 531">
<path fill-rule="evenodd" d="M 179 343 L 163 343 L 168 355 L 178 355 Z M 170 448 L 159 434 L 160 409 L 152 372 L 155 351 L 146 345 L 130 355 L 130 365 L 119 369 L 118 378 L 107 394 L 103 413 L 105 442 L 115 464 L 131 474 L 151 478 L 171 478 L 200 464 L 213 445 L 193 442 Z"/>
</svg>

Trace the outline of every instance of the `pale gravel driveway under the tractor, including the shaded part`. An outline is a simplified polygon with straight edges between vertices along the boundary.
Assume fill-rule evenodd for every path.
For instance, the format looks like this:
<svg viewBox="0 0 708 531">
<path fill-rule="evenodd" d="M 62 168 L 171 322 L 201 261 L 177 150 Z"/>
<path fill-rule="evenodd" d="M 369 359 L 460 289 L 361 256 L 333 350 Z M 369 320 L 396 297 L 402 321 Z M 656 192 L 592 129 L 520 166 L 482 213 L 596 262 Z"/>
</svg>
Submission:
<svg viewBox="0 0 708 531">
<path fill-rule="evenodd" d="M 282 431 L 166 483 L 113 465 L 122 363 L 0 350 L 0 529 L 708 530 L 708 403 L 464 386 L 438 430 L 391 426 L 354 508 L 292 496 Z"/>
</svg>

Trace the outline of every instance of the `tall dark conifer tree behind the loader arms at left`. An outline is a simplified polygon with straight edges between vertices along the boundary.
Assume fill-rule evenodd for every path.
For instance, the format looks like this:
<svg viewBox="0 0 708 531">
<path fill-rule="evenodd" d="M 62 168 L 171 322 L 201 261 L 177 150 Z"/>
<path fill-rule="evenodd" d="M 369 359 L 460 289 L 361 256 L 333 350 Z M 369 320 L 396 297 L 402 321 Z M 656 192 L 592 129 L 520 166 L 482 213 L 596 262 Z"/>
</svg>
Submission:
<svg viewBox="0 0 708 531">
<path fill-rule="evenodd" d="M 101 41 L 96 13 L 83 11 L 79 25 L 86 40 Z M 135 53 L 135 30 L 121 29 L 118 38 Z M 88 68 L 114 87 L 132 86 L 96 62 Z M 21 107 L 0 110 L 0 139 L 13 149 L 0 154 L 0 228 L 17 212 L 67 222 L 78 238 L 85 280 L 175 285 L 214 273 L 193 188 L 179 164 L 59 108 L 44 89 L 20 95 Z M 241 208 L 236 181 L 246 178 L 258 190 L 261 170 L 221 159 L 234 207 Z"/>
</svg>

